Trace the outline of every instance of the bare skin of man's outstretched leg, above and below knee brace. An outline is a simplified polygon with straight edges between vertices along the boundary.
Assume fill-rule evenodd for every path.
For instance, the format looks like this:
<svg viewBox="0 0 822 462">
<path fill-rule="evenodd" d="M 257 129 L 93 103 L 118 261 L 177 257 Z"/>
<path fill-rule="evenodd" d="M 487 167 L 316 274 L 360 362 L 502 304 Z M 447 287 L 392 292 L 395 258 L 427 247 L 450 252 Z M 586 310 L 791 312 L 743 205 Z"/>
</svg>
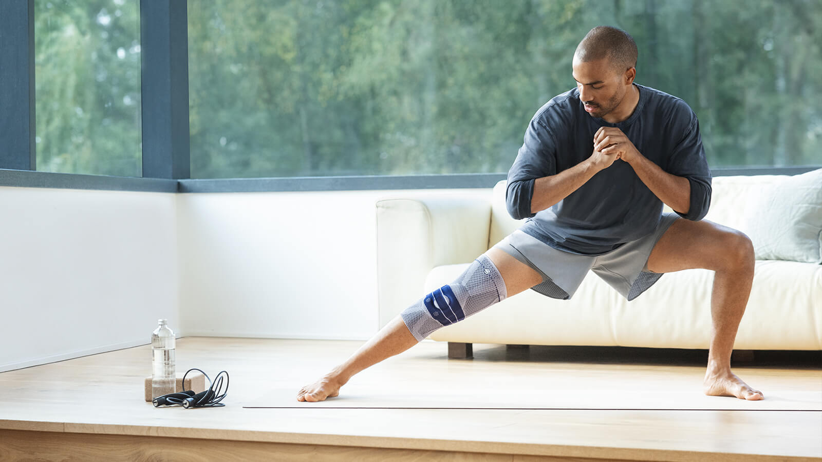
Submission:
<svg viewBox="0 0 822 462">
<path fill-rule="evenodd" d="M 491 259 L 499 271 L 509 297 L 543 281 L 543 277 L 538 272 L 500 249 L 488 249 L 484 255 Z M 470 315 L 470 313 L 467 314 Z M 417 336 L 423 336 L 423 334 L 427 336 L 425 332 L 416 332 Z M 302 387 L 298 391 L 297 400 L 322 401 L 326 398 L 338 396 L 339 388 L 349 382 L 354 374 L 379 363 L 383 359 L 399 355 L 399 353 L 408 350 L 417 343 L 417 337 L 412 334 L 403 317 L 398 314 L 343 364 L 331 369 L 320 380 Z"/>
</svg>

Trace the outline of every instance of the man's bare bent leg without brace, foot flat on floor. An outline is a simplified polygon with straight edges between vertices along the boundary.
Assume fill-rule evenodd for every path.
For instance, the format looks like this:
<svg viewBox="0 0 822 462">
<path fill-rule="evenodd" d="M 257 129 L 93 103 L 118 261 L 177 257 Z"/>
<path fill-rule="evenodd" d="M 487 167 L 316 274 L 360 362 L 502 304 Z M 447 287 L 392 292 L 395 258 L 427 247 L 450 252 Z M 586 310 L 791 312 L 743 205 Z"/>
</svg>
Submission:
<svg viewBox="0 0 822 462">
<path fill-rule="evenodd" d="M 754 248 L 750 239 L 717 223 L 677 220 L 654 246 L 648 258 L 648 269 L 675 272 L 689 268 L 715 272 L 705 394 L 736 396 L 742 400 L 763 399 L 761 391 L 749 387 L 731 372 L 733 342 L 754 280 Z"/>
</svg>

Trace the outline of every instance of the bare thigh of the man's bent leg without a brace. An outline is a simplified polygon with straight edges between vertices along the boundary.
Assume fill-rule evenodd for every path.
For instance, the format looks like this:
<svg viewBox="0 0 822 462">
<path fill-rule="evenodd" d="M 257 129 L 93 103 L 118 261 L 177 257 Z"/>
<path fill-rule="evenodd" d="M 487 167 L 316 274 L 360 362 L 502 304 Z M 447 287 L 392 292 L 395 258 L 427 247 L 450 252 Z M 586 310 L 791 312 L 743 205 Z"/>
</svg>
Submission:
<svg viewBox="0 0 822 462">
<path fill-rule="evenodd" d="M 750 240 L 740 231 L 702 220 L 679 219 L 653 246 L 648 258 L 651 272 L 683 269 L 725 268 L 729 260 L 752 251 Z"/>
</svg>

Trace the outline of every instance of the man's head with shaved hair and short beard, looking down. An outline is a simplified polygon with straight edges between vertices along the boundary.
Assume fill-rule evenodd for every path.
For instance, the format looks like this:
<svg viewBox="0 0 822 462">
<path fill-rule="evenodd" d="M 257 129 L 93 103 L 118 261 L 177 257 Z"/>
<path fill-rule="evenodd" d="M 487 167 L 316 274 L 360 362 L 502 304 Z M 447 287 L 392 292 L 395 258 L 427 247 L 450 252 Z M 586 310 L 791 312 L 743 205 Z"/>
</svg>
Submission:
<svg viewBox="0 0 822 462">
<path fill-rule="evenodd" d="M 636 43 L 616 27 L 599 25 L 585 35 L 574 53 L 574 79 L 580 100 L 592 117 L 620 107 L 636 76 Z"/>
</svg>

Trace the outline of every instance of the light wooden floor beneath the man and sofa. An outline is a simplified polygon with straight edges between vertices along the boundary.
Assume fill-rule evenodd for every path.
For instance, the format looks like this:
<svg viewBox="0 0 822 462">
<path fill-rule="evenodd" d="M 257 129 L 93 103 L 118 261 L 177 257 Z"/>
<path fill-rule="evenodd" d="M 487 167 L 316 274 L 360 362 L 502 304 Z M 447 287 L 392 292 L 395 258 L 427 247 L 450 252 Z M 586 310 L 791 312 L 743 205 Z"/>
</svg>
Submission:
<svg viewBox="0 0 822 462">
<path fill-rule="evenodd" d="M 230 374 L 226 406 L 212 409 L 143 400 L 149 345 L 0 373 L 0 460 L 822 460 L 818 410 L 242 407 L 270 389 L 296 394 L 362 344 L 178 339 L 178 371 Z M 614 400 L 632 381 L 672 376 L 676 399 L 700 395 L 704 361 L 704 351 L 482 344 L 473 359 L 447 359 L 445 344 L 425 341 L 353 377 L 341 396 L 416 383 L 432 394 L 473 383 L 505 394 L 506 381 L 607 390 L 590 384 L 621 371 Z M 757 352 L 735 372 L 765 396 L 822 391 L 818 351 Z"/>
</svg>

